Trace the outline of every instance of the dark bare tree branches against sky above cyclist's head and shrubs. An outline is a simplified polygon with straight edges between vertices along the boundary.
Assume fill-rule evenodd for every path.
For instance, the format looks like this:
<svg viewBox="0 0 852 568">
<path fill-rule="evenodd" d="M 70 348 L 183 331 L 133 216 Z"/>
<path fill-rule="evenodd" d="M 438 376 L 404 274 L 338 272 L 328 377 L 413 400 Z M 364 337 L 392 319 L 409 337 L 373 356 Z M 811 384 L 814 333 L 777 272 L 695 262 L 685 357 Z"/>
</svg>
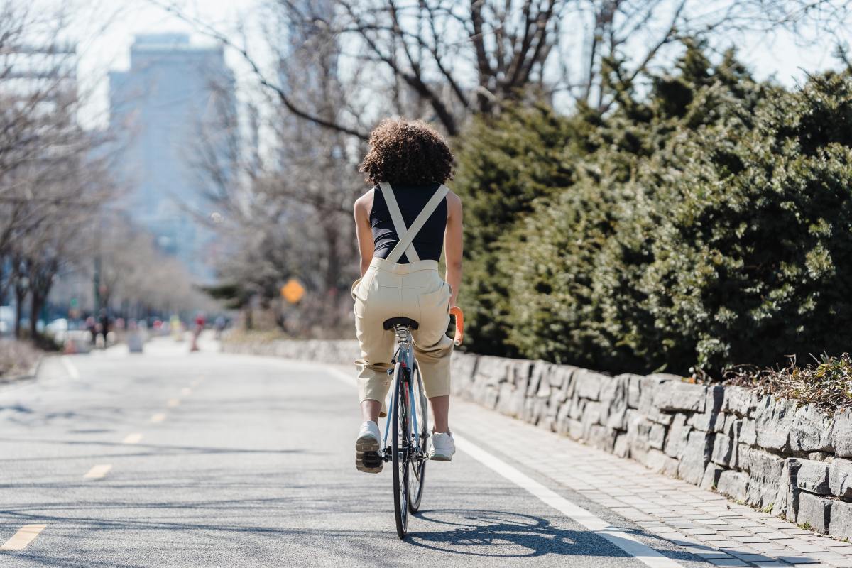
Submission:
<svg viewBox="0 0 852 568">
<path fill-rule="evenodd" d="M 243 58 L 293 117 L 362 140 L 363 114 L 328 116 L 305 103 L 302 87 L 264 69 L 245 43 L 188 17 L 169 0 L 149 0 L 193 23 Z M 608 60 L 636 78 L 683 37 L 728 47 L 735 33 L 822 35 L 849 23 L 847 0 L 267 0 L 279 36 L 322 32 L 354 61 L 375 103 L 418 113 L 457 135 L 466 118 L 511 100 L 566 94 L 606 110 Z M 804 36 L 803 36 L 804 37 Z M 820 39 L 822 36 L 820 35 Z M 271 45 L 281 43 L 273 41 Z M 280 60 L 280 58 L 278 58 Z M 340 75 L 338 74 L 338 77 Z M 387 104 L 385 104 L 385 102 Z M 375 114 L 375 109 L 372 114 Z M 368 113 L 368 116 L 370 113 Z"/>
</svg>

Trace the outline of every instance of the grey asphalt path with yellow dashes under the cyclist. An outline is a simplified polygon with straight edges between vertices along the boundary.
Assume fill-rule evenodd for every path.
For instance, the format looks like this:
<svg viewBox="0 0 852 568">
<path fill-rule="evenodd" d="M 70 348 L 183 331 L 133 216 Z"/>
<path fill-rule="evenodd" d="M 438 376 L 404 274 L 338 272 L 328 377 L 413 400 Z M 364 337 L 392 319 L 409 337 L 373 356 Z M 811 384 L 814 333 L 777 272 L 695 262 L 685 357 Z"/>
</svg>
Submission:
<svg viewBox="0 0 852 568">
<path fill-rule="evenodd" d="M 51 359 L 0 387 L 0 545 L 37 534 L 0 550 L 0 566 L 648 565 L 483 463 L 511 462 L 493 439 L 429 464 L 400 541 L 389 468 L 354 468 L 360 419 L 342 375 L 158 340 Z M 538 482 L 657 548 L 651 565 L 705 565 Z"/>
</svg>

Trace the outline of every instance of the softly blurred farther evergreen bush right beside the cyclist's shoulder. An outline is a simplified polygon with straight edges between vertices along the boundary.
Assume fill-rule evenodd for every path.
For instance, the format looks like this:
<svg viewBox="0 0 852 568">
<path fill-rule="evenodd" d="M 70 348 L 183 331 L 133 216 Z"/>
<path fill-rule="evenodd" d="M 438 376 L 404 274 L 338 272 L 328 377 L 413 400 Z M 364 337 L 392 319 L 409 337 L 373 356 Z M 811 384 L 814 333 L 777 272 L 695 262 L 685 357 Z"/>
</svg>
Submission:
<svg viewBox="0 0 852 568">
<path fill-rule="evenodd" d="M 464 207 L 465 344 L 477 353 L 506 353 L 511 276 L 498 272 L 500 238 L 535 198 L 573 181 L 569 158 L 584 152 L 578 134 L 566 118 L 534 106 L 478 118 L 458 140 L 453 189 Z"/>
</svg>

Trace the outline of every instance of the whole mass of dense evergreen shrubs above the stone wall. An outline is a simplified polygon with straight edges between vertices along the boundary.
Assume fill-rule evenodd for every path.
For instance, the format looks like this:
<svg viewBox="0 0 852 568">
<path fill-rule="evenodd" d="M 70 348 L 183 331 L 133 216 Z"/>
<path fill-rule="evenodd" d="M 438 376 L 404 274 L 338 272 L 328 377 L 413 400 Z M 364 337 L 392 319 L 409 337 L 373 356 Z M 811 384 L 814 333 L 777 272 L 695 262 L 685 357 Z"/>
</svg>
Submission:
<svg viewBox="0 0 852 568">
<path fill-rule="evenodd" d="M 639 96 L 613 66 L 619 108 L 550 115 L 544 135 L 522 112 L 475 127 L 459 166 L 480 189 L 463 192 L 475 349 L 717 376 L 848 349 L 852 78 L 786 92 L 696 45 L 651 78 Z"/>
</svg>

